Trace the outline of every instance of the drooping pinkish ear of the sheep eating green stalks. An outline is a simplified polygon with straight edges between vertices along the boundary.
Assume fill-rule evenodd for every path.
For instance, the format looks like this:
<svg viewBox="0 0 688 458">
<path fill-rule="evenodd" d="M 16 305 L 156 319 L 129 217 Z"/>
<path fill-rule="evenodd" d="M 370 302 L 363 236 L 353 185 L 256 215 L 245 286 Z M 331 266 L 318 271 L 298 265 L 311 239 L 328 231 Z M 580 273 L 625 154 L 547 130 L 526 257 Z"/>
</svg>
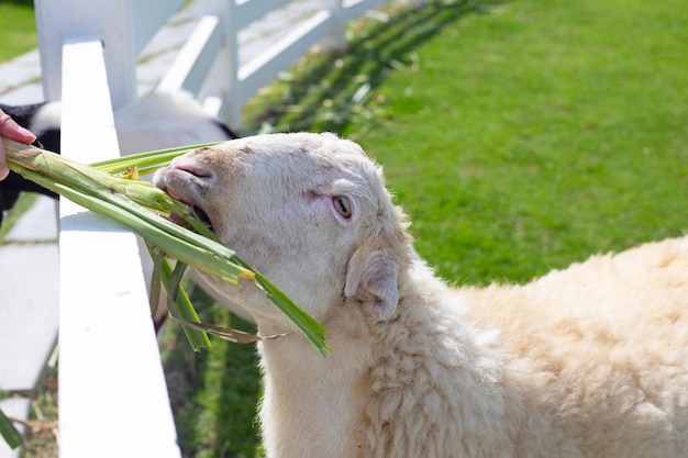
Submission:
<svg viewBox="0 0 688 458">
<path fill-rule="evenodd" d="M 379 320 L 388 320 L 399 301 L 398 271 L 391 253 L 360 247 L 348 261 L 344 294 L 369 306 Z"/>
</svg>

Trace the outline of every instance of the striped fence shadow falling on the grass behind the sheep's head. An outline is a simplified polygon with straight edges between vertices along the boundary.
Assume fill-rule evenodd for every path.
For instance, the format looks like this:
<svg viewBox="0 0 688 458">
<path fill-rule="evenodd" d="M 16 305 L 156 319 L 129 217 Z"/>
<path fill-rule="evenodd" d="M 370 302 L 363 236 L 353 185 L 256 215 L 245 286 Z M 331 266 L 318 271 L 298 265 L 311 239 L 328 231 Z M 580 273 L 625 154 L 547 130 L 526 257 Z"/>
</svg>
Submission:
<svg viewBox="0 0 688 458">
<path fill-rule="evenodd" d="M 252 101 L 245 111 L 246 125 L 252 132 L 310 130 L 344 134 L 352 123 L 374 126 L 384 122 L 390 114 L 380 103 L 368 102 L 380 97 L 375 90 L 389 72 L 413 71 L 419 65 L 413 49 L 462 16 L 503 2 L 431 1 L 420 8 L 362 19 L 355 29 L 349 27 L 354 36 L 346 52 L 301 59 Z"/>
</svg>

